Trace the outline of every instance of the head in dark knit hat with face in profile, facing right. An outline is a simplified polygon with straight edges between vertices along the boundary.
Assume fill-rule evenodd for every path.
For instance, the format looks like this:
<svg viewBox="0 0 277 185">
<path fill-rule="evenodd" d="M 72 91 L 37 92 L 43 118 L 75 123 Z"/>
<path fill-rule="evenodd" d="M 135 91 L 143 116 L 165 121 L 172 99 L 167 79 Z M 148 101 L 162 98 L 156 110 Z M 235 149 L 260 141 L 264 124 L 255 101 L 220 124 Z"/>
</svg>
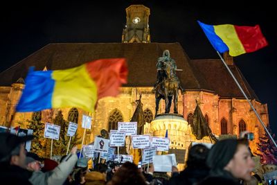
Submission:
<svg viewBox="0 0 277 185">
<path fill-rule="evenodd" d="M 255 164 L 251 158 L 246 139 L 224 139 L 217 141 L 207 157 L 212 173 L 229 171 L 237 179 L 250 180 Z"/>
</svg>

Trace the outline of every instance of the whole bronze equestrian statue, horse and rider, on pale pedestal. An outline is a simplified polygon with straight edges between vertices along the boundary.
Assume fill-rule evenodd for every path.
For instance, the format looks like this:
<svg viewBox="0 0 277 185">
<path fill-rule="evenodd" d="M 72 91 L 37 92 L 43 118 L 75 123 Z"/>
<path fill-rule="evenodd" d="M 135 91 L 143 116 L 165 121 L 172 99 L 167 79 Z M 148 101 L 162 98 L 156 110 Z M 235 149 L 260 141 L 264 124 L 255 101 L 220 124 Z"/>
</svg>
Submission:
<svg viewBox="0 0 277 185">
<path fill-rule="evenodd" d="M 163 56 L 157 61 L 157 81 L 154 84 L 152 92 L 155 93 L 156 98 L 156 114 L 159 110 L 159 101 L 163 98 L 166 101 L 166 112 L 169 113 L 172 98 L 174 98 L 174 113 L 178 114 L 178 91 L 184 94 L 185 90 L 181 87 L 180 80 L 176 74 L 177 64 L 175 60 L 170 58 L 168 50 L 163 51 Z"/>
</svg>

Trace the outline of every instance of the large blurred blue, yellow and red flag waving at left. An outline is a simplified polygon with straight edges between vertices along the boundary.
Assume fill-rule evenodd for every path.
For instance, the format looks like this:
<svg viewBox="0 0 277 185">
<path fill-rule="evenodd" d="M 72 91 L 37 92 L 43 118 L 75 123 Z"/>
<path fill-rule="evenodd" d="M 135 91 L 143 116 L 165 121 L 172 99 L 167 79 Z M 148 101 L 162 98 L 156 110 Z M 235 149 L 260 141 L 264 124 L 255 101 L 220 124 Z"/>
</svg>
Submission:
<svg viewBox="0 0 277 185">
<path fill-rule="evenodd" d="M 30 71 L 16 110 L 79 107 L 93 112 L 98 99 L 116 96 L 123 83 L 127 83 L 124 58 L 95 60 L 64 70 Z"/>
</svg>

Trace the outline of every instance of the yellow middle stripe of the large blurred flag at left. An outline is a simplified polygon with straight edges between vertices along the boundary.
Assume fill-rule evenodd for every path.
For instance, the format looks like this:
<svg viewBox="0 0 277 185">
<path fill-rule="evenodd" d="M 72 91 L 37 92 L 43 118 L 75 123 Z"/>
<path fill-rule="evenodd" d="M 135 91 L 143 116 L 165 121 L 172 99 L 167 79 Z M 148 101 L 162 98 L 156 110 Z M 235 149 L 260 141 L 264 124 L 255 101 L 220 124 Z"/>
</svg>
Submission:
<svg viewBox="0 0 277 185">
<path fill-rule="evenodd" d="M 55 87 L 52 107 L 80 107 L 93 112 L 97 101 L 97 86 L 87 73 L 85 64 L 65 70 L 53 71 Z"/>
</svg>

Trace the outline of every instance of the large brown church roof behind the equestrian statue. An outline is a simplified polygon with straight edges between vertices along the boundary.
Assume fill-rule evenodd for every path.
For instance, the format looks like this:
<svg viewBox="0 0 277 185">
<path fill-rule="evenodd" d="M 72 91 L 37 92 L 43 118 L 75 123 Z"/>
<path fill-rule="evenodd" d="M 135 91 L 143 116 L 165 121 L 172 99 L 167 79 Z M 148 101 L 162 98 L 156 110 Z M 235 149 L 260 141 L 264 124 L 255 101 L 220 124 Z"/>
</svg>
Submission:
<svg viewBox="0 0 277 185">
<path fill-rule="evenodd" d="M 157 79 L 156 63 L 164 50 L 177 62 L 177 76 L 188 91 L 207 90 L 223 97 L 241 97 L 239 89 L 219 60 L 190 60 L 179 43 L 60 43 L 48 44 L 0 73 L 0 86 L 25 78 L 28 68 L 56 70 L 77 67 L 100 58 L 126 58 L 129 70 L 124 87 L 152 87 Z M 247 95 L 258 98 L 237 67 L 232 70 Z M 222 79 L 224 81 L 222 82 Z"/>
</svg>

